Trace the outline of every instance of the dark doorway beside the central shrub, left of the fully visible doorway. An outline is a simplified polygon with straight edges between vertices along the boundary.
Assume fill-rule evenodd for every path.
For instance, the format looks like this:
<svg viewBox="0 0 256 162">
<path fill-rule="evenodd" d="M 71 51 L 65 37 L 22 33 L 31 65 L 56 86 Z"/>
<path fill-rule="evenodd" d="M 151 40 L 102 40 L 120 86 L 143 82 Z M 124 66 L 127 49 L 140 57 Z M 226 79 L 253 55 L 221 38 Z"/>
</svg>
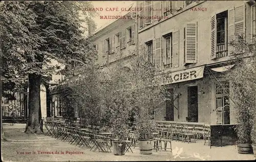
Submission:
<svg viewBox="0 0 256 162">
<path fill-rule="evenodd" d="M 167 89 L 167 91 L 170 100 L 166 100 L 166 121 L 174 121 L 174 89 Z"/>
</svg>

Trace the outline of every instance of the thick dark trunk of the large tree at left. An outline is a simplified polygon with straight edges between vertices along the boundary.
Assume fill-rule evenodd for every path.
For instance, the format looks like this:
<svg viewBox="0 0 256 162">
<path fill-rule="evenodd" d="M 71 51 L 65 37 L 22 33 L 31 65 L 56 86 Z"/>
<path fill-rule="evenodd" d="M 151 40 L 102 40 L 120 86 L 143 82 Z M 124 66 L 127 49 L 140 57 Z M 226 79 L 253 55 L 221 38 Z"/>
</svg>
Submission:
<svg viewBox="0 0 256 162">
<path fill-rule="evenodd" d="M 26 133 L 42 133 L 39 129 L 38 110 L 40 107 L 41 76 L 29 74 L 29 120 Z"/>
</svg>

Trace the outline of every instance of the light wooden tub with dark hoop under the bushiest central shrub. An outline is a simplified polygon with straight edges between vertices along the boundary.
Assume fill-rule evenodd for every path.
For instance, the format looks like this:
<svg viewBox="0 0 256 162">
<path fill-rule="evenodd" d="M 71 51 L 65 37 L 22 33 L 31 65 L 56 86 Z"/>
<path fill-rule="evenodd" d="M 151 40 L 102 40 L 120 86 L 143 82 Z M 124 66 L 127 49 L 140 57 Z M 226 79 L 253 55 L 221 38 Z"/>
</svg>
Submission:
<svg viewBox="0 0 256 162">
<path fill-rule="evenodd" d="M 152 154 L 154 139 L 138 139 L 140 154 Z"/>
</svg>

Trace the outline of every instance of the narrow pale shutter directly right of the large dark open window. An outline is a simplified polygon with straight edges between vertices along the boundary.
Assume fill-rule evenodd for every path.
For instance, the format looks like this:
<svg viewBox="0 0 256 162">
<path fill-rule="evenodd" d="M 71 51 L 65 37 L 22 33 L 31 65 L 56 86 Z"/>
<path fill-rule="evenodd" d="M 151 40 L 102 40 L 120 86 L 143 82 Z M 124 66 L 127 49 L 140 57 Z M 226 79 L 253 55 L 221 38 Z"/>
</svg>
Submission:
<svg viewBox="0 0 256 162">
<path fill-rule="evenodd" d="M 234 40 L 234 8 L 228 10 L 228 55 L 232 55 L 233 47 L 230 42 Z"/>
</svg>

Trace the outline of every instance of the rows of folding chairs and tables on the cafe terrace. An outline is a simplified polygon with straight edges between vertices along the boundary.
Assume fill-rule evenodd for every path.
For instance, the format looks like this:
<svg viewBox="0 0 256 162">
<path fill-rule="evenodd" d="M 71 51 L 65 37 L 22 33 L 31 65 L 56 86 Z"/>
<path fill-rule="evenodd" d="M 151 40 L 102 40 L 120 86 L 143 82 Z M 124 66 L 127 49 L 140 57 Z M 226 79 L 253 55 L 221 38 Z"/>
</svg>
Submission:
<svg viewBox="0 0 256 162">
<path fill-rule="evenodd" d="M 172 141 L 181 143 L 202 143 L 205 147 L 211 147 L 211 129 L 209 125 L 203 123 L 169 122 L 156 121 L 157 127 L 154 135 L 154 150 L 172 152 Z M 62 118 L 47 118 L 45 126 L 48 130 L 46 135 L 50 135 L 61 141 L 66 141 L 77 147 L 90 148 L 91 151 L 113 152 L 112 141 L 117 140 L 112 135 L 112 128 L 100 124 L 83 125 L 79 121 L 67 121 Z M 131 151 L 138 146 L 136 128 L 126 130 L 125 150 Z"/>
</svg>

